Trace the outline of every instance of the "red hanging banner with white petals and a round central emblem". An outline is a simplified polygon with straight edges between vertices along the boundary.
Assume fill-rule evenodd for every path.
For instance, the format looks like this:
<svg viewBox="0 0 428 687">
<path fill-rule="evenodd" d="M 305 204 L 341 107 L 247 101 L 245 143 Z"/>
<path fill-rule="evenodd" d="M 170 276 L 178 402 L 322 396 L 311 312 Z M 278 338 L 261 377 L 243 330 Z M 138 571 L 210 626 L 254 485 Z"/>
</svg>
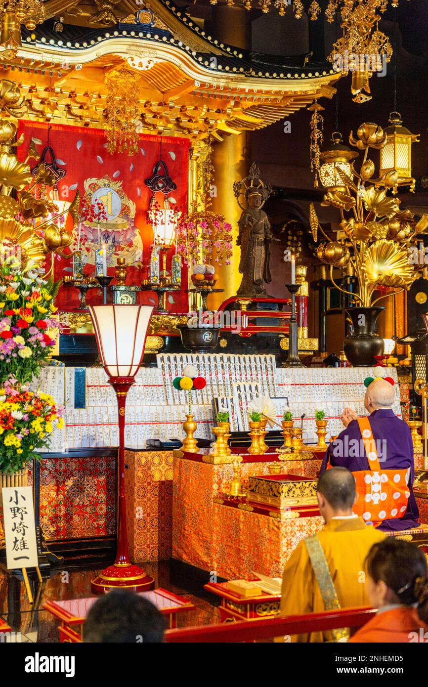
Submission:
<svg viewBox="0 0 428 687">
<path fill-rule="evenodd" d="M 48 137 L 49 131 L 49 137 Z M 106 150 L 104 131 L 79 126 L 42 124 L 41 122 L 19 122 L 19 135 L 24 141 L 17 149 L 19 160 L 27 157 L 33 140 L 38 153 L 48 145 L 54 150 L 58 168 L 65 170 L 65 177 L 58 180 L 59 201 L 71 202 L 79 190 L 80 197 L 86 196 L 89 203 L 102 203 L 106 221 L 82 221 L 74 229 L 71 252 L 82 251 L 84 273 L 95 273 L 95 249 L 106 245 L 108 251 L 108 274 L 114 277 L 116 258 L 125 258 L 128 265 L 127 284 L 139 286 L 148 277 L 150 252 L 153 247 L 153 228 L 148 223 L 147 210 L 151 192 L 145 179 L 153 175 L 154 168 L 162 158 L 168 167 L 168 174 L 177 188 L 171 192 L 170 200 L 180 212 L 187 212 L 188 203 L 188 139 L 139 135 L 139 150 L 135 155 L 113 153 Z M 34 166 L 30 160 L 30 166 Z M 67 223 L 66 228 L 68 229 Z M 71 227 L 70 227 L 71 230 Z M 80 236 L 80 240 L 79 240 Z M 174 253 L 174 247 L 170 256 Z M 168 269 L 170 265 L 168 256 Z M 71 260 L 55 256 L 54 278 L 59 279 L 72 273 Z M 183 268 L 183 284 L 187 273 Z M 147 296 L 147 294 L 146 294 Z M 140 294 L 140 300 L 147 300 Z M 99 294 L 89 291 L 87 302 L 99 302 Z M 76 310 L 79 306 L 78 290 L 62 287 L 56 301 L 60 310 Z M 183 291 L 168 296 L 168 307 L 172 312 L 188 310 L 187 295 Z"/>
</svg>

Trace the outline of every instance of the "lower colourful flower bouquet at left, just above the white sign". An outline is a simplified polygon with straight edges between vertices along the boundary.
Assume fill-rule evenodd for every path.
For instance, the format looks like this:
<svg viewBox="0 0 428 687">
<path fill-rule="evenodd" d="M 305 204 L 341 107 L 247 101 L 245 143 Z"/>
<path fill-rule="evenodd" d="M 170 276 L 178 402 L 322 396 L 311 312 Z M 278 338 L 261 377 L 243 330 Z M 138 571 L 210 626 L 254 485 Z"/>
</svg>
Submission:
<svg viewBox="0 0 428 687">
<path fill-rule="evenodd" d="M 32 392 L 27 386 L 15 388 L 10 376 L 0 389 L 0 473 L 21 470 L 32 458 L 40 460 L 37 449 L 47 447 L 49 435 L 62 429 L 63 407 L 52 396 Z"/>
</svg>

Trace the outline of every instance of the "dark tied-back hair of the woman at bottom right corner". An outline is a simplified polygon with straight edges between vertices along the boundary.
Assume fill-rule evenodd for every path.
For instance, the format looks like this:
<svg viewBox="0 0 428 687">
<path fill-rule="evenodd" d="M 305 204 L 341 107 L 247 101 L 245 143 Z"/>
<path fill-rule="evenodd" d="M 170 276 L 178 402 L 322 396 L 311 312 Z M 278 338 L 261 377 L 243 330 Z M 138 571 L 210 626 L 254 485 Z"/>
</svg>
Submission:
<svg viewBox="0 0 428 687">
<path fill-rule="evenodd" d="M 400 603 L 417 603 L 420 620 L 428 623 L 428 565 L 422 549 L 411 542 L 386 537 L 372 546 L 365 566 L 374 583 L 383 580 Z"/>
</svg>

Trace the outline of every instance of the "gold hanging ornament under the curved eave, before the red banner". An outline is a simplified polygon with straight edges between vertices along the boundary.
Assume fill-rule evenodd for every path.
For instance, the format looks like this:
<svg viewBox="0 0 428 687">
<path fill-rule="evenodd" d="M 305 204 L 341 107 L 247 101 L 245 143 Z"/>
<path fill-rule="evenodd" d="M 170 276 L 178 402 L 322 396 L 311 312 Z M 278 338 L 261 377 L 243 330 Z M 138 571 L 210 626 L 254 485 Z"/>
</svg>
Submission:
<svg viewBox="0 0 428 687">
<path fill-rule="evenodd" d="M 128 69 L 113 69 L 106 74 L 107 89 L 105 135 L 109 153 L 135 155 L 140 120 L 139 75 Z"/>
</svg>

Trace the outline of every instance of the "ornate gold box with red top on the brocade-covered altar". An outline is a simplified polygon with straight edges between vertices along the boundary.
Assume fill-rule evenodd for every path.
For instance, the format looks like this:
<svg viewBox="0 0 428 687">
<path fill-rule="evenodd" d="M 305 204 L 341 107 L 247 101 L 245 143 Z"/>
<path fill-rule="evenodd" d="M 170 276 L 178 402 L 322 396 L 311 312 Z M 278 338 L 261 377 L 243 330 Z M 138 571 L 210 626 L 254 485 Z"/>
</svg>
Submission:
<svg viewBox="0 0 428 687">
<path fill-rule="evenodd" d="M 297 475 L 249 477 L 247 501 L 275 508 L 313 506 L 317 503 L 317 480 Z"/>
</svg>

